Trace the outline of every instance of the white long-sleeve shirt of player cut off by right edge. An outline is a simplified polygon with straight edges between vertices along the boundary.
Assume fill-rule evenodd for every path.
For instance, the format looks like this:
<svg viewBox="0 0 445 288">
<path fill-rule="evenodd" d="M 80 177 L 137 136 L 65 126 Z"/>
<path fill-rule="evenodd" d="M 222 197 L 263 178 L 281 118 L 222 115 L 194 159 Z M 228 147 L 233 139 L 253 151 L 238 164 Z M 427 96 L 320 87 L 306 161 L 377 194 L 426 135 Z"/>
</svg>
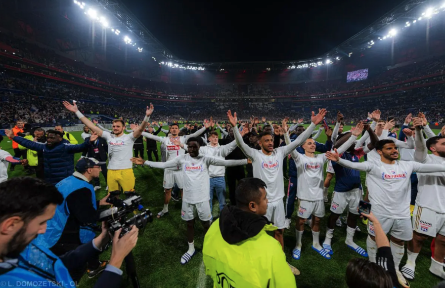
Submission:
<svg viewBox="0 0 445 288">
<path fill-rule="evenodd" d="M 414 160 L 419 163 L 439 164 L 445 166 L 445 158 L 428 154 L 423 134 L 417 132 L 415 136 L 416 151 Z M 416 204 L 445 213 L 445 172 L 417 173 L 419 183 Z"/>
</svg>

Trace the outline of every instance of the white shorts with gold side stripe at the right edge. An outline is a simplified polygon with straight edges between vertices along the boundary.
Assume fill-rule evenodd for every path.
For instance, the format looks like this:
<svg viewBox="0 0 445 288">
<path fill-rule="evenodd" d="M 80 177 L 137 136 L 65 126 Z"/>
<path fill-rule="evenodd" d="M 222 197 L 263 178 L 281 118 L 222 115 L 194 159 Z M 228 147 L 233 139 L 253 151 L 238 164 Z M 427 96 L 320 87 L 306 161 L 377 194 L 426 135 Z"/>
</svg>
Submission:
<svg viewBox="0 0 445 288">
<path fill-rule="evenodd" d="M 445 236 L 445 214 L 416 204 L 412 212 L 412 230 L 431 237 Z"/>
</svg>

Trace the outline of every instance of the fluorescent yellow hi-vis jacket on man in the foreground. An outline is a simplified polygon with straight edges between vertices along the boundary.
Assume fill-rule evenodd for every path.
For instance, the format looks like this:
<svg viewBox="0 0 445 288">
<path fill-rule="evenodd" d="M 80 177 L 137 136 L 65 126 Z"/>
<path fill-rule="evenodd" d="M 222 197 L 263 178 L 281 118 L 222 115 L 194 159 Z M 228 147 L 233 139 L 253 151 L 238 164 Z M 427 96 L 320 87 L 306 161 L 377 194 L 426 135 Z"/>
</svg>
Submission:
<svg viewBox="0 0 445 288">
<path fill-rule="evenodd" d="M 256 236 L 230 245 L 221 235 L 220 219 L 206 233 L 202 251 L 215 288 L 296 288 L 280 243 L 266 233 L 276 227 L 267 224 Z"/>
</svg>

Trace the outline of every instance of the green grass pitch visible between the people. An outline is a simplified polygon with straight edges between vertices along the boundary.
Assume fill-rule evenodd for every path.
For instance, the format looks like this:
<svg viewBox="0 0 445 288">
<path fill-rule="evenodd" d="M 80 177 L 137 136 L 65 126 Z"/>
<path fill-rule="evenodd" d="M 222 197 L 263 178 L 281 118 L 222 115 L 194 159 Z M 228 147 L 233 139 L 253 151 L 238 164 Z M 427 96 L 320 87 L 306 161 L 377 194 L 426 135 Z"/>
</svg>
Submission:
<svg viewBox="0 0 445 288">
<path fill-rule="evenodd" d="M 345 130 L 349 130 L 349 126 L 345 126 Z M 434 130 L 438 133 L 439 130 Z M 82 143 L 81 132 L 72 133 L 79 143 Z M 161 132 L 162 134 L 162 132 Z M 160 135 L 161 135 L 160 134 Z M 326 136 L 324 133 L 317 139 L 324 142 Z M 1 143 L 2 149 L 12 154 L 11 143 L 5 138 Z M 159 151 L 159 149 L 158 149 Z M 76 154 L 75 161 L 80 157 Z M 144 155 L 146 159 L 146 154 Z M 325 170 L 325 169 L 324 169 Z M 148 167 L 134 168 L 136 176 L 136 192 L 142 195 L 143 205 L 149 208 L 153 214 L 159 212 L 164 204 L 164 192 L 162 188 L 163 170 Z M 9 177 L 23 175 L 23 168 L 17 166 L 15 171 L 9 172 Z M 364 174 L 362 174 L 362 183 L 364 184 Z M 96 197 L 99 199 L 106 195 L 106 183 L 103 176 L 100 176 L 102 189 L 97 192 Z M 284 181 L 285 189 L 288 182 Z M 329 198 L 333 191 L 335 177 L 332 179 L 329 189 Z M 286 190 L 287 191 L 287 190 Z M 228 199 L 228 195 L 227 195 Z M 218 200 L 215 197 L 214 215 L 218 214 Z M 204 277 L 204 269 L 202 262 L 202 244 L 204 240 L 203 229 L 200 224 L 195 227 L 195 248 L 199 251 L 190 262 L 182 266 L 180 265 L 180 257 L 188 249 L 185 237 L 185 222 L 180 218 L 181 203 L 171 202 L 169 206 L 170 215 L 162 219 L 154 219 L 152 223 L 147 224 L 143 234 L 139 236 L 137 246 L 134 248 L 134 258 L 137 265 L 137 273 L 141 287 L 150 288 L 211 288 L 212 281 L 208 277 Z M 329 215 L 329 206 L 326 206 L 326 217 L 321 221 L 320 242 L 324 240 L 326 231 L 326 220 Z M 296 211 L 294 212 L 294 218 Z M 344 244 L 346 239 L 346 226 L 342 228 L 336 227 L 332 247 L 334 255 L 332 259 L 326 260 L 311 249 L 312 233 L 308 226 L 305 226 L 305 234 L 303 236 L 302 258 L 299 261 L 292 259 L 291 251 L 295 247 L 295 222 L 291 224 L 291 229 L 285 230 L 284 233 L 284 252 L 288 261 L 301 271 L 301 275 L 296 277 L 297 287 L 299 288 L 322 288 L 336 287 L 345 288 L 345 271 L 349 259 L 357 257 L 356 252 L 347 248 Z M 355 242 L 357 245 L 366 247 L 366 227 L 359 223 L 362 232 L 357 232 Z M 417 258 L 416 279 L 412 281 L 412 288 L 429 288 L 440 282 L 440 279 L 433 276 L 428 268 L 430 266 L 430 241 L 425 243 L 419 257 Z M 267 248 L 267 247 L 265 247 Z M 109 251 L 102 253 L 102 259 L 109 258 Z M 406 254 L 406 253 L 405 253 Z M 406 255 L 402 259 L 401 267 L 406 261 Z M 125 267 L 123 267 L 125 271 Z M 123 287 L 132 287 L 131 282 L 127 280 L 124 272 Z M 202 281 L 200 281 L 202 280 Z M 198 283 L 199 282 L 199 283 Z M 81 288 L 92 287 L 95 279 L 88 279 L 86 276 L 82 279 Z"/>
</svg>

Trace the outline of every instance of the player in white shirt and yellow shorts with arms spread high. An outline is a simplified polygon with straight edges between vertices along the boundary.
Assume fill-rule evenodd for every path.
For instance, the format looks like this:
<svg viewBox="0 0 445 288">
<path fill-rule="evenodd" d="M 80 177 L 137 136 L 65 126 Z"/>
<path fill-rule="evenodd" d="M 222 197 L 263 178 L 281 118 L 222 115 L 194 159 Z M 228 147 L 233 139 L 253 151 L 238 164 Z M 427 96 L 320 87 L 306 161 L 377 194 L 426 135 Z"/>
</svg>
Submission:
<svg viewBox="0 0 445 288">
<path fill-rule="evenodd" d="M 134 173 L 133 164 L 130 159 L 133 157 L 133 143 L 142 134 L 145 126 L 147 125 L 150 115 L 153 113 L 154 107 L 150 103 L 150 107 L 147 106 L 145 111 L 145 118 L 139 129 L 133 133 L 125 134 L 125 123 L 121 119 L 113 120 L 113 133 L 103 131 L 94 123 L 89 121 L 77 108 L 76 102 L 70 104 L 68 101 L 63 101 L 65 108 L 77 115 L 80 121 L 87 125 L 89 129 L 96 132 L 100 137 L 105 139 L 108 144 L 108 175 L 107 185 L 109 191 L 121 190 L 131 191 L 134 190 Z"/>
</svg>

